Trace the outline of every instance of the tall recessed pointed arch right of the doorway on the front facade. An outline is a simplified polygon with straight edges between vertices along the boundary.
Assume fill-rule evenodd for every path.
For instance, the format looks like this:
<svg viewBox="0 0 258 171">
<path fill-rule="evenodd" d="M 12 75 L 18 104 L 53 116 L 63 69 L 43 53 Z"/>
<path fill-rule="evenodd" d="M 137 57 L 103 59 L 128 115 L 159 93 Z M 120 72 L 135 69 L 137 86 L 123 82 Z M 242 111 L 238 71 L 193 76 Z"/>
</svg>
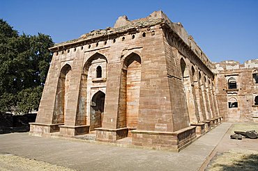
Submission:
<svg viewBox="0 0 258 171">
<path fill-rule="evenodd" d="M 138 54 L 132 52 L 121 60 L 119 125 L 120 127 L 128 127 L 128 129 L 137 129 L 142 59 Z"/>
</svg>

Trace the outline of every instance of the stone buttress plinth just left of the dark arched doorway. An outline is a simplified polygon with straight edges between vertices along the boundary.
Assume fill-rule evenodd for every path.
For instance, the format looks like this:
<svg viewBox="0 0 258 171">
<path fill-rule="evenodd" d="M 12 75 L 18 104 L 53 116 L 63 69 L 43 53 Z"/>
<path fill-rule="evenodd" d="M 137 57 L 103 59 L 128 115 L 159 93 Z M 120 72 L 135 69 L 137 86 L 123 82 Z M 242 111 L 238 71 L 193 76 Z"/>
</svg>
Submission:
<svg viewBox="0 0 258 171">
<path fill-rule="evenodd" d="M 82 134 L 89 133 L 89 125 L 79 125 L 79 126 L 66 126 L 61 125 L 60 128 L 60 136 L 64 137 L 72 137 L 79 136 Z"/>
</svg>

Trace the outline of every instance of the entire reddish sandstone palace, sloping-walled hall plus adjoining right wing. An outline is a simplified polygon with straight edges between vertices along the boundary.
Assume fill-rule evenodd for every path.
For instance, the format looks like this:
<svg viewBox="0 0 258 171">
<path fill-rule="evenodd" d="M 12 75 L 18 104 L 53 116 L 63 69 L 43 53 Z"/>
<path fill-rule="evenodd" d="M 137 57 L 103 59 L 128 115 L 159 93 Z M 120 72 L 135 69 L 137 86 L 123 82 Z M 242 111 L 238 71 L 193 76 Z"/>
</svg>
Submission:
<svg viewBox="0 0 258 171">
<path fill-rule="evenodd" d="M 33 136 L 180 150 L 223 120 L 258 116 L 258 61 L 212 63 L 162 11 L 55 44 Z"/>
</svg>

